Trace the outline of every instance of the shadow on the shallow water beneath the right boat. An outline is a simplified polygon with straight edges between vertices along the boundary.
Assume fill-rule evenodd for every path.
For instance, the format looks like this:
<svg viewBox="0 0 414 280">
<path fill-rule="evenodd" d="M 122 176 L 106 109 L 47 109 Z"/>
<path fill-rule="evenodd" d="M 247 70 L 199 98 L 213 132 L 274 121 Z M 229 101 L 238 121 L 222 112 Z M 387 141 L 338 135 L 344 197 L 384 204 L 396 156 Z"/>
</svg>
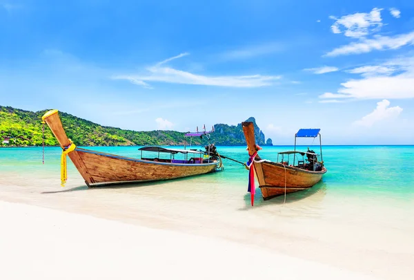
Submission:
<svg viewBox="0 0 414 280">
<path fill-rule="evenodd" d="M 246 193 L 244 195 L 244 203 L 246 204 L 244 208 L 241 208 L 239 210 L 248 210 L 253 209 L 257 207 L 264 207 L 268 205 L 283 205 L 285 203 L 295 203 L 299 200 L 303 200 L 305 198 L 315 198 L 313 200 L 315 201 L 322 201 L 324 196 L 326 194 L 326 183 L 323 181 L 320 181 L 315 186 L 304 189 L 299 192 L 293 192 L 290 194 L 286 194 L 286 200 L 284 195 L 276 196 L 275 198 L 271 198 L 269 200 L 263 200 L 262 198 L 262 192 L 259 187 L 256 188 L 256 194 L 255 194 L 255 205 L 252 207 L 251 200 L 250 200 L 250 193 Z"/>
</svg>

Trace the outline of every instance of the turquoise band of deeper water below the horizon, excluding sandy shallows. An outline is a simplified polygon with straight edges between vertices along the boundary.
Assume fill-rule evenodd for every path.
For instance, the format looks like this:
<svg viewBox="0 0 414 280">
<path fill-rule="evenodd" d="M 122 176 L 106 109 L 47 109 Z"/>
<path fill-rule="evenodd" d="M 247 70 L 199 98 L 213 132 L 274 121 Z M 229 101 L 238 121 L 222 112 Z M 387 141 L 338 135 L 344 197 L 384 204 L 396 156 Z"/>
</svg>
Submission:
<svg viewBox="0 0 414 280">
<path fill-rule="evenodd" d="M 89 147 L 88 149 L 139 157 L 138 148 Z M 174 148 L 182 149 L 183 147 Z M 193 148 L 201 149 L 201 147 Z M 259 151 L 259 156 L 268 160 L 276 160 L 277 152 L 290 149 L 292 147 L 264 147 Z M 299 147 L 299 150 L 304 149 L 306 147 Z M 311 149 L 319 152 L 319 147 L 311 147 Z M 217 151 L 242 162 L 248 159 L 246 147 L 217 147 Z M 386 195 L 402 200 L 412 198 L 414 195 L 412 169 L 414 146 L 326 146 L 323 147 L 322 153 L 328 172 L 319 185 L 330 194 Z M 59 147 L 46 147 L 45 165 L 42 165 L 41 147 L 1 148 L 0 176 L 4 172 L 35 174 L 35 176 L 42 177 L 52 176 L 52 174 L 59 176 L 60 155 Z M 71 162 L 68 168 L 68 174 L 77 172 Z M 230 160 L 224 160 L 224 172 L 213 176 L 215 182 L 226 183 L 230 187 L 245 186 L 247 183 L 247 170 L 237 162 Z M 212 178 L 209 176 L 208 180 Z"/>
</svg>

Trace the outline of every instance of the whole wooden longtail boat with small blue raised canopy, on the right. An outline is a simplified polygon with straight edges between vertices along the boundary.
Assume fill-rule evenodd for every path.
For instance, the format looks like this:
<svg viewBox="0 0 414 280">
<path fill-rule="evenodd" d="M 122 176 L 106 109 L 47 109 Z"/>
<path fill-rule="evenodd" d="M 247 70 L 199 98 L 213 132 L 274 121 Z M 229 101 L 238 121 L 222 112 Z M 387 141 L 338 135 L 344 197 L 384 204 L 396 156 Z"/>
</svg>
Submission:
<svg viewBox="0 0 414 280">
<path fill-rule="evenodd" d="M 313 187 L 313 185 L 322 179 L 322 175 L 326 173 L 326 168 L 322 160 L 322 142 L 320 143 L 320 157 L 314 151 L 310 151 L 309 148 L 306 152 L 296 151 L 297 137 L 315 138 L 319 136 L 320 142 L 320 129 L 299 129 L 295 134 L 295 150 L 278 153 L 277 162 L 272 162 L 270 160 L 262 160 L 262 158 L 257 156 L 257 151 L 261 148 L 255 143 L 255 128 L 253 127 L 253 123 L 242 122 L 242 127 L 244 136 L 246 137 L 250 161 L 253 160 L 256 178 L 262 190 L 264 200 Z M 255 158 L 251 158 L 255 153 Z M 292 155 L 293 161 L 289 164 L 290 156 Z M 281 158 L 280 161 L 279 157 Z"/>
</svg>

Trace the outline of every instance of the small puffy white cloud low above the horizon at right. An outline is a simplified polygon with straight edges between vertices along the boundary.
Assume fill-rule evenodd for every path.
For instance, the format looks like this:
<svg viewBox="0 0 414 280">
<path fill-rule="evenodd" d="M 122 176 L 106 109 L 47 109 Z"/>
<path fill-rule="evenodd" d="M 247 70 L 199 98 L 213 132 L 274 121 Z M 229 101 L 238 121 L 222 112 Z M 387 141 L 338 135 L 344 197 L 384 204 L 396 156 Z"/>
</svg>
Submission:
<svg viewBox="0 0 414 280">
<path fill-rule="evenodd" d="M 357 120 L 354 124 L 371 127 L 375 122 L 395 119 L 401 112 L 402 108 L 400 106 L 390 107 L 390 102 L 384 99 L 377 103 L 377 108 L 374 111 L 362 117 L 361 120 Z"/>
</svg>

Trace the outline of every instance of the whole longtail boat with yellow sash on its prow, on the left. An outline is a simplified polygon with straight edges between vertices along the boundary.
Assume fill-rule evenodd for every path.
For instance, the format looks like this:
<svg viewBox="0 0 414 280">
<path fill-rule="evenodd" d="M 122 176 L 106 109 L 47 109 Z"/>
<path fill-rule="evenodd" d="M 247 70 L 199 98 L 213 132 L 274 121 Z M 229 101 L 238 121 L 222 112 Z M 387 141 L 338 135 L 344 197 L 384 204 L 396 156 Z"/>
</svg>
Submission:
<svg viewBox="0 0 414 280">
<path fill-rule="evenodd" d="M 57 110 L 51 110 L 42 117 L 57 138 L 62 152 L 62 186 L 66 182 L 66 154 L 85 180 L 88 187 L 119 183 L 168 180 L 207 174 L 222 169 L 221 158 L 208 157 L 208 152 L 162 147 L 142 147 L 141 158 L 127 158 L 100 151 L 81 149 L 68 139 Z M 203 134 L 203 133 L 199 133 Z M 205 133 L 204 133 L 205 134 Z M 209 145 L 210 149 L 211 145 Z M 156 158 L 143 158 L 143 151 L 157 153 Z M 161 156 L 160 156 L 161 153 Z M 176 160 L 179 153 L 184 160 Z M 162 156 L 164 154 L 164 157 Z M 170 156 L 166 158 L 165 155 Z M 188 154 L 193 155 L 188 159 Z"/>
</svg>

